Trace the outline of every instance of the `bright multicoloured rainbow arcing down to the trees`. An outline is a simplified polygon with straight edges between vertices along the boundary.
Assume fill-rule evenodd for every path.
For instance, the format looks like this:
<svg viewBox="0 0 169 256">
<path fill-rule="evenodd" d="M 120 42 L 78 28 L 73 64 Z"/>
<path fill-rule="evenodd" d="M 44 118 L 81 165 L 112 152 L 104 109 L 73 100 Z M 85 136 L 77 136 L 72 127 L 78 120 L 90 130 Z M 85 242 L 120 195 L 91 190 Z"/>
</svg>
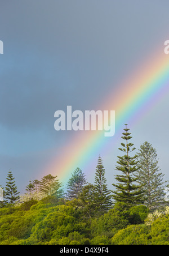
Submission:
<svg viewBox="0 0 169 256">
<path fill-rule="evenodd" d="M 104 131 L 73 132 L 72 139 L 62 148 L 56 150 L 52 163 L 47 165 L 44 173 L 51 173 L 66 182 L 77 167 L 84 173 L 90 172 L 87 166 L 103 150 L 113 147 L 119 138 L 124 123 L 140 120 L 159 99 L 169 91 L 169 56 L 158 53 L 146 58 L 137 70 L 124 79 L 117 89 L 109 92 L 103 103 L 95 110 L 115 110 L 115 136 L 104 137 Z M 64 131 L 63 131 L 64 132 Z"/>
</svg>

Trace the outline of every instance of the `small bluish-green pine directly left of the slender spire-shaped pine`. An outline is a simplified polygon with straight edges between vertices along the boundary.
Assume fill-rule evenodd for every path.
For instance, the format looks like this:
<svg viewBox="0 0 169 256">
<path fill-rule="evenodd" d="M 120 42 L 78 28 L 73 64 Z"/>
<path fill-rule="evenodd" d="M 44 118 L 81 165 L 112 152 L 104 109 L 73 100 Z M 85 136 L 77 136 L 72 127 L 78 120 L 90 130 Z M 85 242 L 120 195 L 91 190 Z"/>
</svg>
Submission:
<svg viewBox="0 0 169 256">
<path fill-rule="evenodd" d="M 67 184 L 67 198 L 69 200 L 78 199 L 82 193 L 83 186 L 86 184 L 86 178 L 82 170 L 79 168 L 75 169 Z"/>
</svg>

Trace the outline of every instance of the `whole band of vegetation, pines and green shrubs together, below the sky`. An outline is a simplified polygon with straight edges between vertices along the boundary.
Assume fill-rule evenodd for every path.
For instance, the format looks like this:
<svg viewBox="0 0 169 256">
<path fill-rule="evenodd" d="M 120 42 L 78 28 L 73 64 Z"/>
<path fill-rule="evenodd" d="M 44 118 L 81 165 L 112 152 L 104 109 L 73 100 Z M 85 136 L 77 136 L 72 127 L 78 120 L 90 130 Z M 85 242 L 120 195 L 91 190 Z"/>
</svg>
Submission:
<svg viewBox="0 0 169 256">
<path fill-rule="evenodd" d="M 77 168 L 66 191 L 57 176 L 48 174 L 30 181 L 19 195 L 9 172 L 0 209 L 0 244 L 169 244 L 169 186 L 157 151 L 145 142 L 134 155 L 129 131 L 125 125 L 112 190 L 101 156 L 94 184 Z"/>
</svg>

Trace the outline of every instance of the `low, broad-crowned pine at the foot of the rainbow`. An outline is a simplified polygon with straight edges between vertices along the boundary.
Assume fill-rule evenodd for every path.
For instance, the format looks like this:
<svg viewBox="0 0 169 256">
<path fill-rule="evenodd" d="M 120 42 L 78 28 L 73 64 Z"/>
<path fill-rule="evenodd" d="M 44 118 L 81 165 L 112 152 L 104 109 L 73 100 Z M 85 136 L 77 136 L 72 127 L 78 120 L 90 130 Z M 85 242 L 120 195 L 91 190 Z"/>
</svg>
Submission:
<svg viewBox="0 0 169 256">
<path fill-rule="evenodd" d="M 41 191 L 41 193 L 43 193 L 46 197 L 63 197 L 63 189 L 61 189 L 63 185 L 59 182 L 59 180 L 56 180 L 56 178 L 57 176 L 54 177 L 51 174 L 48 174 L 47 176 L 44 176 L 39 182 L 39 191 Z"/>
</svg>

